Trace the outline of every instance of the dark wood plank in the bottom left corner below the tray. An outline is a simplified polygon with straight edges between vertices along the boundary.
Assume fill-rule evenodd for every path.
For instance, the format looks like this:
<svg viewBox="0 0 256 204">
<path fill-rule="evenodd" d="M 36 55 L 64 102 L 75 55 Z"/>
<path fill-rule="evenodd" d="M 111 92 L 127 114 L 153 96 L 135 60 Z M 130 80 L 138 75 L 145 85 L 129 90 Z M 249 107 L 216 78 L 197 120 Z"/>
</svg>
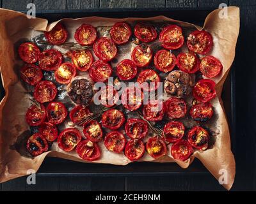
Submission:
<svg viewBox="0 0 256 204">
<path fill-rule="evenodd" d="M 25 191 L 26 177 L 9 180 L 2 184 L 2 191 Z"/>
</svg>

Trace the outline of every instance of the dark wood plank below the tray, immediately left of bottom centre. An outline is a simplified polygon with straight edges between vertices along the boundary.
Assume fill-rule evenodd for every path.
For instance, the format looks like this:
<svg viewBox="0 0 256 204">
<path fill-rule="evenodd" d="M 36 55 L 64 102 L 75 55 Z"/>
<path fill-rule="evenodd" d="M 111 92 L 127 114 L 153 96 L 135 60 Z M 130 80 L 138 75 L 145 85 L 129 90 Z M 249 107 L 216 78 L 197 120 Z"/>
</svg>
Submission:
<svg viewBox="0 0 256 204">
<path fill-rule="evenodd" d="M 123 177 L 93 177 L 92 191 L 124 191 L 125 178 Z"/>
</svg>

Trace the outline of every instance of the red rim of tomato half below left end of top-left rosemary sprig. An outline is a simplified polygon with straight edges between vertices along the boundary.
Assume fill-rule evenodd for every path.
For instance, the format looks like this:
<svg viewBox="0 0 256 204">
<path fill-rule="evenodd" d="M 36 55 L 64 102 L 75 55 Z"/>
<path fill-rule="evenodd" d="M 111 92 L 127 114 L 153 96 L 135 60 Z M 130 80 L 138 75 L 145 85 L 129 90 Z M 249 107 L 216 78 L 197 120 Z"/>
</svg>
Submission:
<svg viewBox="0 0 256 204">
<path fill-rule="evenodd" d="M 56 55 L 56 57 L 58 58 L 58 63 L 55 64 L 55 66 L 53 67 L 48 67 L 48 66 L 45 66 L 45 64 L 42 64 L 45 60 L 49 61 L 49 59 L 44 59 L 45 56 L 51 56 L 51 55 Z M 39 67 L 45 71 L 52 71 L 52 70 L 56 70 L 62 63 L 63 61 L 63 56 L 61 54 L 60 51 L 58 50 L 54 50 L 54 49 L 49 49 L 49 50 L 44 50 L 43 52 L 40 53 L 39 57 L 38 57 L 38 64 L 39 64 Z"/>
</svg>

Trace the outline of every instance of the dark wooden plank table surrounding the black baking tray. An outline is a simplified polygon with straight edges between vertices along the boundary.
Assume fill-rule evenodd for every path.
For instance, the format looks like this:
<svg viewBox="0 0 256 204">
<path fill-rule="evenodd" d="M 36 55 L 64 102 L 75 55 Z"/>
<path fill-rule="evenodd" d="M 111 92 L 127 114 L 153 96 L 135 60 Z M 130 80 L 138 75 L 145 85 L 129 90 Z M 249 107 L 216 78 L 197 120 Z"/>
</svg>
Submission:
<svg viewBox="0 0 256 204">
<path fill-rule="evenodd" d="M 236 59 L 236 180 L 232 190 L 256 190 L 256 0 L 0 0 L 1 8 L 73 10 L 99 8 L 218 8 L 220 3 L 239 6 L 241 29 Z M 0 184 L 0 191 L 225 191 L 210 173 L 159 177 L 36 177 Z"/>
</svg>

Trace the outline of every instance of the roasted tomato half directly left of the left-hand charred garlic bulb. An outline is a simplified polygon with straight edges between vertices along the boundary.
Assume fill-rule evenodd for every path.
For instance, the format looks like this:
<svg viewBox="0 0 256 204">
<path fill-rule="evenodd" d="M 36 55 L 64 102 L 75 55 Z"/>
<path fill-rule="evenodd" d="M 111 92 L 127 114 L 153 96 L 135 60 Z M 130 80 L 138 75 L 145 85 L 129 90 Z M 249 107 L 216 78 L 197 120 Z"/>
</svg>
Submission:
<svg viewBox="0 0 256 204">
<path fill-rule="evenodd" d="M 39 103 L 52 101 L 57 95 L 56 85 L 50 81 L 40 81 L 36 84 L 34 97 Z"/>
</svg>

